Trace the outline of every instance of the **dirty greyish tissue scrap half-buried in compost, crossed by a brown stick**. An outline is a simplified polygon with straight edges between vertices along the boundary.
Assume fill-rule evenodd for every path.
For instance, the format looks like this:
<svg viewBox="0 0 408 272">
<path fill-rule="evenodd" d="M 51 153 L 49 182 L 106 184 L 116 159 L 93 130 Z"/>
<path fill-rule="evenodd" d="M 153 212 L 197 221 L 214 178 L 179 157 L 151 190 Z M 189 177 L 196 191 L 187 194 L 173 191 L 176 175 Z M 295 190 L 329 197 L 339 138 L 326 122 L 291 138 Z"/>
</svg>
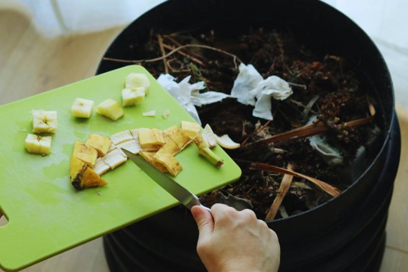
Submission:
<svg viewBox="0 0 408 272">
<path fill-rule="evenodd" d="M 316 115 L 312 116 L 306 125 L 311 125 L 316 120 Z M 329 145 L 322 137 L 309 137 L 310 145 L 316 150 L 328 164 L 340 164 L 343 162 L 343 156 L 335 147 Z"/>
</svg>

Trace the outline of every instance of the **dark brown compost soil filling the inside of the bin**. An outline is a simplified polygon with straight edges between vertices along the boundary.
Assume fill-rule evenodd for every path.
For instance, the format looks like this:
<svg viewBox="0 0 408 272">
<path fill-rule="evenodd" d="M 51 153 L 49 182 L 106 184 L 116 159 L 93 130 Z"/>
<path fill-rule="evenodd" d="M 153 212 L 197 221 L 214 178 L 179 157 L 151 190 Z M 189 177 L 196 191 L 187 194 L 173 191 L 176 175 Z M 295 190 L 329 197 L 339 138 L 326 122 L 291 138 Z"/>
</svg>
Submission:
<svg viewBox="0 0 408 272">
<path fill-rule="evenodd" d="M 293 94 L 284 101 L 272 100 L 273 121 L 252 116 L 252 107 L 227 98 L 220 103 L 197 107 L 203 125 L 209 123 L 218 134 L 228 134 L 234 141 L 246 143 L 289 131 L 305 125 L 309 118 L 317 115 L 330 128 L 325 140 L 343 155 L 341 165 L 329 165 L 309 143 L 309 139 L 298 139 L 279 146 L 263 146 L 259 149 L 227 151 L 242 168 L 239 181 L 219 190 L 202 195 L 203 204 L 228 203 L 235 200 L 250 207 L 258 218 L 264 219 L 279 188 L 283 175 L 263 170 L 249 169 L 247 163 L 263 162 L 286 167 L 294 163 L 294 170 L 325 181 L 340 190 L 351 183 L 347 175 L 340 176 L 355 157 L 360 146 L 367 144 L 373 136 L 374 125 L 348 129 L 337 129 L 345 121 L 368 116 L 369 84 L 356 72 L 357 64 L 341 56 L 319 56 L 297 41 L 290 32 L 276 30 L 243 29 L 240 34 L 227 35 L 215 28 L 196 29 L 180 33 L 161 33 L 163 43 L 177 47 L 183 44 L 205 44 L 236 55 L 245 64 L 252 64 L 264 78 L 276 75 L 294 83 Z M 149 42 L 144 46 L 131 45 L 136 55 L 145 59 L 162 56 L 157 33 L 151 31 Z M 166 50 L 168 53 L 170 50 Z M 231 56 L 203 48 L 185 48 L 183 53 L 169 56 L 169 73 L 182 80 L 192 76 L 190 82 L 205 81 L 207 90 L 230 93 L 238 69 Z M 202 62 L 192 60 L 198 59 Z M 239 63 L 238 63 L 239 64 Z M 165 71 L 162 60 L 142 63 L 152 75 L 158 77 Z M 314 96 L 317 101 L 311 110 L 304 113 Z M 344 174 L 344 173 L 343 173 Z M 345 178 L 346 176 L 346 178 Z M 351 175 L 348 175 L 351 177 Z M 314 208 L 331 198 L 318 187 L 303 179 L 294 178 L 292 187 L 282 206 L 290 215 Z M 285 214 L 285 213 L 283 213 Z M 280 213 L 276 218 L 281 217 Z"/>
</svg>

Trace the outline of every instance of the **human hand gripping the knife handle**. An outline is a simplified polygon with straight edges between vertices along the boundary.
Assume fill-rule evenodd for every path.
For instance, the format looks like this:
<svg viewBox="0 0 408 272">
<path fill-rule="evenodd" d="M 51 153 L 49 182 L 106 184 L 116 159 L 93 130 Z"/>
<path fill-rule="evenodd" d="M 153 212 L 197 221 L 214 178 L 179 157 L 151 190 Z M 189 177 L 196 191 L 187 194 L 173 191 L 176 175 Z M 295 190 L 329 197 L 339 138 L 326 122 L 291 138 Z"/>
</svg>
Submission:
<svg viewBox="0 0 408 272">
<path fill-rule="evenodd" d="M 251 210 L 237 211 L 223 204 L 212 215 L 194 206 L 197 253 L 209 272 L 277 271 L 281 249 L 276 233 Z"/>
</svg>

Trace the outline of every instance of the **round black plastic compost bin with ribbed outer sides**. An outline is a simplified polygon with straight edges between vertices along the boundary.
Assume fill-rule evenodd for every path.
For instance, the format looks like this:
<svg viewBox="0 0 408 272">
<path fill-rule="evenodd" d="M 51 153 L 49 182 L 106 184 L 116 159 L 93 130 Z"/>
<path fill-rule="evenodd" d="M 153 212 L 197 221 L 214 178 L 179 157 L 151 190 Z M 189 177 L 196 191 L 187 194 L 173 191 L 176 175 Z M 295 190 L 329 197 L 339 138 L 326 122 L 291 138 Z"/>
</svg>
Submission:
<svg viewBox="0 0 408 272">
<path fill-rule="evenodd" d="M 281 242 L 282 271 L 373 271 L 384 252 L 388 207 L 400 154 L 390 73 L 371 39 L 352 20 L 320 1 L 170 0 L 137 18 L 111 44 L 105 57 L 143 59 L 150 29 L 179 31 L 194 26 L 290 29 L 319 55 L 359 63 L 378 101 L 376 123 L 383 135 L 358 164 L 354 181 L 339 196 L 307 212 L 268 221 Z M 97 73 L 126 64 L 101 61 Z M 198 233 L 190 212 L 177 206 L 107 235 L 112 271 L 201 271 Z"/>
</svg>

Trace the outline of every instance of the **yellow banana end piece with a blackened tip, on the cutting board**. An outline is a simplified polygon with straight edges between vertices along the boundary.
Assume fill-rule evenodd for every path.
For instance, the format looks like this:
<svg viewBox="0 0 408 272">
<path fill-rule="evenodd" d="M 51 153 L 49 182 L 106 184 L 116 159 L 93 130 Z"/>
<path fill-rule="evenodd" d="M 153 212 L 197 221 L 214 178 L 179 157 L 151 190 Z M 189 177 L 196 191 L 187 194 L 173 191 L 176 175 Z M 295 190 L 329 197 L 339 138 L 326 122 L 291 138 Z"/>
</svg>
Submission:
<svg viewBox="0 0 408 272">
<path fill-rule="evenodd" d="M 75 157 L 71 157 L 69 177 L 72 186 L 77 190 L 101 187 L 108 184 L 106 180 L 96 174 L 86 163 Z"/>
</svg>

